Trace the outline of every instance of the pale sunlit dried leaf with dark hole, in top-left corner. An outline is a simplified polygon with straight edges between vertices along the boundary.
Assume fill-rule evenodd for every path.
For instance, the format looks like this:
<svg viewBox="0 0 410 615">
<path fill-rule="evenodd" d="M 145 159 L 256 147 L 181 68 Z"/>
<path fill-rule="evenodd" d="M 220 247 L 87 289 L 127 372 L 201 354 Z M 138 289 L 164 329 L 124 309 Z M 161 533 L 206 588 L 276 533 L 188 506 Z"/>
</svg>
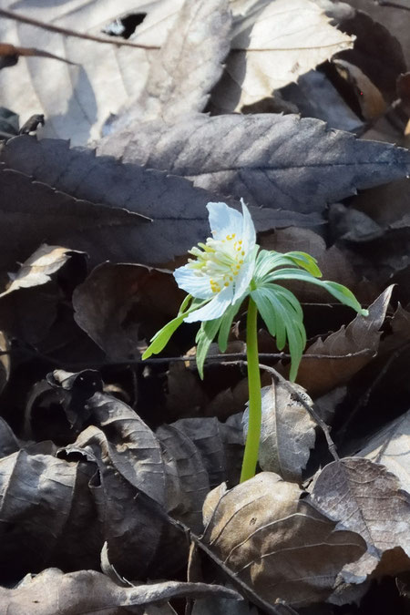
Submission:
<svg viewBox="0 0 410 615">
<path fill-rule="evenodd" d="M 38 46 L 67 58 L 77 66 L 66 67 L 53 60 L 36 57 L 21 58 L 18 66 L 0 72 L 1 105 L 14 108 L 22 117 L 44 113 L 43 134 L 51 138 L 70 138 L 73 145 L 86 145 L 89 138 L 98 138 L 108 115 L 116 113 L 128 98 L 136 95 L 147 78 L 149 57 L 155 55 L 175 20 L 179 3 L 147 3 L 127 0 L 118 3 L 68 0 L 63 4 L 34 6 L 22 0 L 18 8 L 7 1 L 2 8 L 16 8 L 17 15 L 25 15 L 43 22 L 97 36 L 107 40 L 101 44 L 93 40 L 67 36 L 45 30 L 18 20 L 1 20 L 0 39 L 16 46 Z M 138 10 L 148 13 L 137 28 L 132 43 L 154 48 L 130 46 L 102 35 L 102 27 Z M 140 34 L 139 34 L 140 32 Z M 118 43 L 123 43 L 118 46 Z M 58 83 L 58 87 L 55 87 Z"/>
</svg>

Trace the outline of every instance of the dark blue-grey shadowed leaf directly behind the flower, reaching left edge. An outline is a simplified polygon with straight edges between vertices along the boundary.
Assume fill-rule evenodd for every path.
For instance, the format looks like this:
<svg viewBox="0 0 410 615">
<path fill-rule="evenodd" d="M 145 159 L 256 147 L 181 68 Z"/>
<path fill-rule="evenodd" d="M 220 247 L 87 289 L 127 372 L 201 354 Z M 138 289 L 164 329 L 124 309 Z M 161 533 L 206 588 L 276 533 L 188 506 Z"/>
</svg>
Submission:
<svg viewBox="0 0 410 615">
<path fill-rule="evenodd" d="M 17 247 L 25 241 L 36 241 L 35 250 L 46 238 L 87 251 L 93 264 L 107 260 L 166 262 L 208 236 L 206 204 L 221 200 L 214 192 L 193 188 L 185 179 L 96 157 L 92 149 L 69 149 L 66 141 L 57 139 L 11 139 L 1 159 L 5 166 L 36 179 L 33 182 L 14 170 L 3 171 L 0 178 L 9 260 L 19 258 L 21 248 Z M 73 197 L 103 205 L 73 202 Z M 154 222 L 148 223 L 141 215 Z M 259 231 L 322 221 L 319 216 L 259 209 L 252 210 L 252 217 Z"/>
</svg>

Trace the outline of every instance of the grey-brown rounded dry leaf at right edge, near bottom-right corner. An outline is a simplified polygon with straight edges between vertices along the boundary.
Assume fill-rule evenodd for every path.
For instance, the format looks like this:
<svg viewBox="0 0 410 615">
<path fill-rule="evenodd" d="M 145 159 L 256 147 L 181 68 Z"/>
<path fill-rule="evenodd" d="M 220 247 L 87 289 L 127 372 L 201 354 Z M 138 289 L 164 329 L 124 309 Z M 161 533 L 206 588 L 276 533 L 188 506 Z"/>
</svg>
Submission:
<svg viewBox="0 0 410 615">
<path fill-rule="evenodd" d="M 309 501 L 367 543 L 363 557 L 343 569 L 345 581 L 410 569 L 410 494 L 384 466 L 360 457 L 333 462 L 316 478 Z"/>
</svg>

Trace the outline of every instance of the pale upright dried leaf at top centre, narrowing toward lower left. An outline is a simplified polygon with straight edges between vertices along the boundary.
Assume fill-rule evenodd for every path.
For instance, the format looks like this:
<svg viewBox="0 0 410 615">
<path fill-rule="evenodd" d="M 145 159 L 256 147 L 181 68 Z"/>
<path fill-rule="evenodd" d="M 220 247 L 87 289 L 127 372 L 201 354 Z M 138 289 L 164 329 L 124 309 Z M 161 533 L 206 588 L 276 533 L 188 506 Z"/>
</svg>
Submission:
<svg viewBox="0 0 410 615">
<path fill-rule="evenodd" d="M 202 111 L 220 78 L 230 32 L 228 0 L 186 0 L 151 63 L 144 89 L 113 128 L 159 116 L 170 122 Z"/>
</svg>

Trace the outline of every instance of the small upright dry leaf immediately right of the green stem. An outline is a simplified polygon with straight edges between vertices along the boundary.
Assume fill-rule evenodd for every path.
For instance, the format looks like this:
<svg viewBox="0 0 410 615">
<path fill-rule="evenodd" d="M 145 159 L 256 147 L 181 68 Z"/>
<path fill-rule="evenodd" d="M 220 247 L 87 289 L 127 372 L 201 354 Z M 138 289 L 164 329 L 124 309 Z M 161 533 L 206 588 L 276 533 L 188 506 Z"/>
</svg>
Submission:
<svg viewBox="0 0 410 615">
<path fill-rule="evenodd" d="M 313 405 L 302 386 L 293 385 L 305 402 Z M 300 483 L 302 469 L 314 446 L 315 423 L 287 388 L 272 381 L 261 389 L 261 441 L 259 465 L 266 472 L 276 472 L 283 480 Z M 249 409 L 243 415 L 244 432 L 248 431 Z"/>
</svg>

